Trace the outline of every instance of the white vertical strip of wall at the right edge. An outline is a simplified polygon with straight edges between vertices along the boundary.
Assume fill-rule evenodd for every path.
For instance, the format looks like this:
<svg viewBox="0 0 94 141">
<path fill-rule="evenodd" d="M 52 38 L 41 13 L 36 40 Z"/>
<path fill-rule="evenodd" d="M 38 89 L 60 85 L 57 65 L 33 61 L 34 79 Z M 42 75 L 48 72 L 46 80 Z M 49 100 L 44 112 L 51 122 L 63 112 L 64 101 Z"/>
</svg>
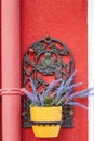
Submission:
<svg viewBox="0 0 94 141">
<path fill-rule="evenodd" d="M 94 0 L 88 0 L 89 87 L 94 86 Z M 89 141 L 94 141 L 94 97 L 89 98 Z"/>
</svg>

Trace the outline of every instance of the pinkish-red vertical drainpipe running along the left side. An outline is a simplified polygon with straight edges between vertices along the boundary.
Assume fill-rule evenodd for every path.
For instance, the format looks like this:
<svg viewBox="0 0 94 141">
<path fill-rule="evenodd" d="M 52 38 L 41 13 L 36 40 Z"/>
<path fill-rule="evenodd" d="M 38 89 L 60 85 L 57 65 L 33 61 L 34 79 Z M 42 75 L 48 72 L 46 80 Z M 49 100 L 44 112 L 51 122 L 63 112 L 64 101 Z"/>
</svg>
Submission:
<svg viewBox="0 0 94 141">
<path fill-rule="evenodd" d="M 19 0 L 1 0 L 2 89 L 19 88 Z M 6 95 L 8 94 L 8 95 Z M 21 97 L 2 95 L 2 141 L 21 141 Z"/>
</svg>

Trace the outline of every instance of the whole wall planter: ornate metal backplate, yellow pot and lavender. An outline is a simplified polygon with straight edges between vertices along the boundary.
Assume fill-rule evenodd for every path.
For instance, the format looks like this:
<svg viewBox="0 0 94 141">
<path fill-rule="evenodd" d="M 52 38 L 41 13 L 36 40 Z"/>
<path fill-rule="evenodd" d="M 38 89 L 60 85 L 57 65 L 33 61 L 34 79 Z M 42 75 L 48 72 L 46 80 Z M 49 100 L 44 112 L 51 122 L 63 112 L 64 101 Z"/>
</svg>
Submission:
<svg viewBox="0 0 94 141">
<path fill-rule="evenodd" d="M 94 95 L 91 93 L 94 88 L 72 91 L 75 87 L 82 85 L 72 84 L 76 74 L 72 73 L 72 55 L 67 47 L 51 37 L 45 37 L 27 50 L 24 57 L 23 121 L 27 125 L 30 123 L 36 137 L 57 137 L 61 126 L 72 127 L 72 106 L 86 108 L 72 100 Z"/>
</svg>

